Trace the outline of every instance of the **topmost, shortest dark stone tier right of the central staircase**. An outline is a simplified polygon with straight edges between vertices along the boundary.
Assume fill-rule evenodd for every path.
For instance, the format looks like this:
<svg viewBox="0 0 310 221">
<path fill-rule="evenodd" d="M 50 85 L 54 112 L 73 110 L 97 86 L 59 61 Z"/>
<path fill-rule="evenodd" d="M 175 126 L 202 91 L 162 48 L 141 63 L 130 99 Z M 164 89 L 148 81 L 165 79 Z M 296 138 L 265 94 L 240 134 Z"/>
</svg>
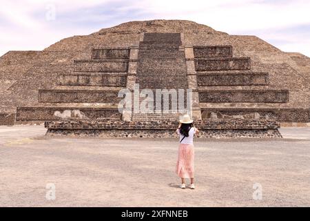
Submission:
<svg viewBox="0 0 310 221">
<path fill-rule="evenodd" d="M 194 46 L 194 57 L 232 57 L 232 46 Z"/>
</svg>

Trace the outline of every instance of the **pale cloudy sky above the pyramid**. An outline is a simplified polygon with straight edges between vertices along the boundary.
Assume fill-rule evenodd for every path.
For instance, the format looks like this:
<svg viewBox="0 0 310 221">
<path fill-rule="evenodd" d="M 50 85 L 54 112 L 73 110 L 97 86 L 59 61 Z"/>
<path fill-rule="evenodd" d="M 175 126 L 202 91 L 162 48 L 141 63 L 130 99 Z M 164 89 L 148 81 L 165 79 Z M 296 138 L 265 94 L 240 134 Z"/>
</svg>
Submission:
<svg viewBox="0 0 310 221">
<path fill-rule="evenodd" d="M 310 0 L 1 0 L 0 56 L 133 20 L 185 19 L 310 57 Z"/>
</svg>

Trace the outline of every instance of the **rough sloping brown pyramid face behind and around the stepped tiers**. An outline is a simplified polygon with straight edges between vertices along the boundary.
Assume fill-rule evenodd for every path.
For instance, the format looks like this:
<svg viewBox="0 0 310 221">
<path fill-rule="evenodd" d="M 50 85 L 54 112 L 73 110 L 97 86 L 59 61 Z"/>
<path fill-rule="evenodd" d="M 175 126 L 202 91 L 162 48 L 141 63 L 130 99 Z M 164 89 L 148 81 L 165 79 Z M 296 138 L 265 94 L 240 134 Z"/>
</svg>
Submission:
<svg viewBox="0 0 310 221">
<path fill-rule="evenodd" d="M 92 48 L 137 47 L 139 41 L 143 40 L 144 33 L 154 32 L 180 33 L 183 45 L 187 48 L 232 46 L 234 57 L 251 57 L 251 71 L 269 73 L 269 89 L 289 90 L 289 102 L 282 103 L 280 108 L 309 108 L 310 106 L 310 59 L 308 57 L 300 53 L 282 52 L 255 36 L 227 35 L 192 21 L 153 20 L 122 23 L 91 35 L 69 37 L 52 44 L 43 51 L 8 52 L 0 59 L 1 111 L 13 113 L 17 106 L 37 105 L 37 88 L 54 87 L 56 74 L 72 73 L 74 60 L 90 59 Z M 217 87 L 220 90 L 227 90 L 227 88 Z M 267 87 L 262 90 L 265 88 Z M 232 89 L 234 88 L 229 88 L 229 90 Z M 238 87 L 238 89 L 249 89 L 249 87 Z M 242 107 L 252 106 L 252 104 L 243 103 Z M 271 105 L 260 105 L 260 107 L 268 108 Z M 278 108 L 277 105 L 272 107 Z"/>
</svg>

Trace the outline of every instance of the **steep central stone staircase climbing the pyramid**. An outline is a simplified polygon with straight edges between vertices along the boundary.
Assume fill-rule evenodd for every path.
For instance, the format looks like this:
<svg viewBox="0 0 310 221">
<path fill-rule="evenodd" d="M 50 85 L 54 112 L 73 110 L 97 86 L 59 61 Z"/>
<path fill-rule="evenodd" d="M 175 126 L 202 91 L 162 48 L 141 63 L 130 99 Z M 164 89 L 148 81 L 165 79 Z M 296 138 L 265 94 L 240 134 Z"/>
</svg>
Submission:
<svg viewBox="0 0 310 221">
<path fill-rule="evenodd" d="M 185 92 L 187 85 L 187 68 L 184 46 L 180 33 L 145 33 L 143 41 L 138 47 L 138 66 L 136 70 L 136 84 L 139 88 L 149 89 L 154 94 L 154 108 L 156 107 L 156 89 L 172 91 L 178 96 L 178 90 Z M 184 95 L 186 95 L 184 93 Z M 176 121 L 184 111 L 172 113 L 172 97 L 168 98 L 168 110 L 164 111 L 163 97 L 161 110 L 154 113 L 133 113 L 133 121 L 172 120 Z M 186 100 L 185 100 L 186 107 Z M 154 110 L 155 111 L 155 110 Z"/>
</svg>

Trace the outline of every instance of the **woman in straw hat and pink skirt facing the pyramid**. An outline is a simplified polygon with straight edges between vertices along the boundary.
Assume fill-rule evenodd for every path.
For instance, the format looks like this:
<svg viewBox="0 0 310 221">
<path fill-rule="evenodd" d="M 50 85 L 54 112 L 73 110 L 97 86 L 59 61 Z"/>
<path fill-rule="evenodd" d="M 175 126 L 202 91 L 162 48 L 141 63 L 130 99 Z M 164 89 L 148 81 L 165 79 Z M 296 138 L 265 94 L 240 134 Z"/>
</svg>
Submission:
<svg viewBox="0 0 310 221">
<path fill-rule="evenodd" d="M 194 134 L 199 133 L 194 127 L 193 120 L 189 115 L 184 115 L 180 119 L 180 124 L 176 133 L 180 135 L 180 144 L 178 147 L 178 162 L 176 163 L 176 174 L 181 178 L 182 184 L 180 188 L 185 189 L 185 178 L 191 179 L 191 189 L 195 189 L 194 185 Z"/>
</svg>

